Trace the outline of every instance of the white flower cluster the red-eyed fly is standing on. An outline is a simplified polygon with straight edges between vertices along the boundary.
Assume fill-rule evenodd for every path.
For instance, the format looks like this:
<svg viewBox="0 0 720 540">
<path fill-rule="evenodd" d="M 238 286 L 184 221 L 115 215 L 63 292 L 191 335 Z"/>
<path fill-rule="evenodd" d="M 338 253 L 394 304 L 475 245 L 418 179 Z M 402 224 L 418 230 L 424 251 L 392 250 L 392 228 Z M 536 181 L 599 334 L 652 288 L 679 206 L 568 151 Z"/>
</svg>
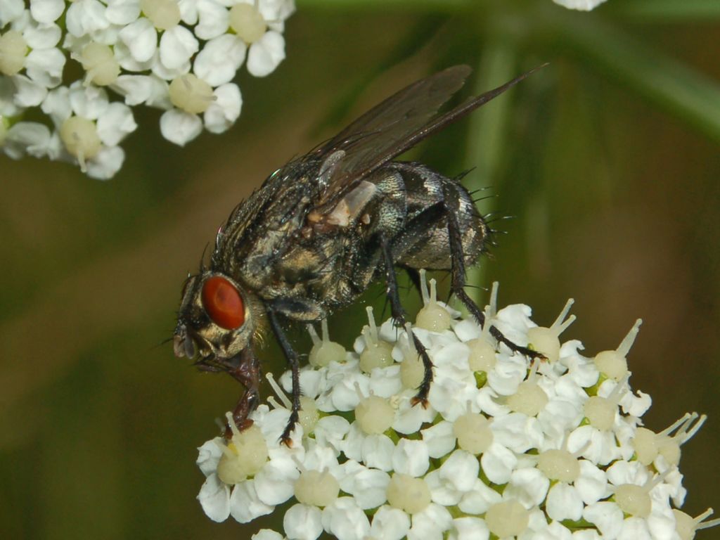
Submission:
<svg viewBox="0 0 720 540">
<path fill-rule="evenodd" d="M 312 330 L 292 446 L 279 442 L 289 402 L 275 384 L 284 405 L 271 398 L 251 428 L 199 448 L 207 516 L 248 523 L 288 503 L 284 536 L 255 540 L 690 540 L 714 525 L 701 523 L 711 510 L 675 509 L 680 446 L 704 416 L 642 427 L 650 397 L 631 390 L 626 364 L 639 321 L 616 350 L 588 358 L 580 341 L 559 341 L 572 302 L 541 328 L 525 305 L 496 312 L 496 292 L 485 328 L 424 292 L 411 331 L 434 365 L 427 408 L 413 406 L 423 368 L 410 325 L 376 328 L 370 311 L 351 353 L 326 325 L 323 338 Z M 496 351 L 490 323 L 546 359 Z M 289 391 L 289 374 L 281 382 Z"/>
</svg>

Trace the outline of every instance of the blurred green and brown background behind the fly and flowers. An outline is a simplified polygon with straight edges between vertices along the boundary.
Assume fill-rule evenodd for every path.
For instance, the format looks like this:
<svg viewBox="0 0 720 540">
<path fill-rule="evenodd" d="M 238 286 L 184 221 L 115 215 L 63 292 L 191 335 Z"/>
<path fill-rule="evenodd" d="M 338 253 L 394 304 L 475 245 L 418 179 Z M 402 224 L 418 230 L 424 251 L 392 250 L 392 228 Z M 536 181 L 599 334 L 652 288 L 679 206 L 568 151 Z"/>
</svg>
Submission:
<svg viewBox="0 0 720 540">
<path fill-rule="evenodd" d="M 540 73 L 414 150 L 490 187 L 500 235 L 479 284 L 563 338 L 615 348 L 636 318 L 631 384 L 659 431 L 710 415 L 683 447 L 696 515 L 720 505 L 720 3 L 608 0 L 569 12 L 550 0 L 298 1 L 287 60 L 242 70 L 243 113 L 225 135 L 176 148 L 159 112 L 112 181 L 73 166 L 0 157 L 0 535 L 7 539 L 248 538 L 195 500 L 196 447 L 239 388 L 200 374 L 163 340 L 188 271 L 217 226 L 267 174 L 401 86 L 455 63 L 479 92 Z M 481 303 L 487 293 L 479 290 Z M 379 290 L 369 302 L 382 306 Z M 415 294 L 408 306 L 416 304 Z M 361 305 L 330 319 L 346 346 Z M 307 351 L 304 330 L 295 343 Z M 262 351 L 282 369 L 274 345 Z M 720 538 L 703 531 L 700 538 Z"/>
</svg>

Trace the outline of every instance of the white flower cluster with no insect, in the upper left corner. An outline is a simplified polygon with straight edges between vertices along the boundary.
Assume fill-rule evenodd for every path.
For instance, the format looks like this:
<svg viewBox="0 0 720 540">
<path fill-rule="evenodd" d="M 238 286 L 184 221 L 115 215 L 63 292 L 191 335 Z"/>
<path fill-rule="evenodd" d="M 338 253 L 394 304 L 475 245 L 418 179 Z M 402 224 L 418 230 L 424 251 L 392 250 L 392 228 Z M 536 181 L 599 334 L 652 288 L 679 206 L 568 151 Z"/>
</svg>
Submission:
<svg viewBox="0 0 720 540">
<path fill-rule="evenodd" d="M 107 179 L 131 107 L 164 109 L 178 145 L 224 132 L 242 105 L 235 73 L 246 56 L 253 76 L 274 71 L 292 12 L 294 0 L 0 0 L 0 148 Z"/>
</svg>

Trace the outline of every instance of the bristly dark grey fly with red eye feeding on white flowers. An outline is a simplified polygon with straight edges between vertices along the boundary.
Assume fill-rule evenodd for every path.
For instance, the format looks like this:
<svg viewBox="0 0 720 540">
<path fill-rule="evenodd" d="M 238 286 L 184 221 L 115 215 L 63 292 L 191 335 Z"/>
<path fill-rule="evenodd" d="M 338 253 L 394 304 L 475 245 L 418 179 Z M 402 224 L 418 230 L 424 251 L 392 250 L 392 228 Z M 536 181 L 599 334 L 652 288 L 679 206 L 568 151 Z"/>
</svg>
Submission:
<svg viewBox="0 0 720 540">
<path fill-rule="evenodd" d="M 490 241 L 487 222 L 459 179 L 396 160 L 532 73 L 438 112 L 470 72 L 447 68 L 385 99 L 271 174 L 218 231 L 209 266 L 184 285 L 174 351 L 243 384 L 233 411 L 238 428 L 250 425 L 259 402 L 261 332 L 271 328 L 292 369 L 292 411 L 282 434 L 289 444 L 300 410 L 300 362 L 284 324 L 323 320 L 382 280 L 392 318 L 404 326 L 397 268 L 415 282 L 420 269 L 449 271 L 452 294 L 484 323 L 464 286 L 466 267 Z M 513 351 L 541 356 L 495 327 L 491 333 Z M 414 343 L 425 368 L 415 403 L 426 405 L 433 364 L 418 338 Z"/>
</svg>

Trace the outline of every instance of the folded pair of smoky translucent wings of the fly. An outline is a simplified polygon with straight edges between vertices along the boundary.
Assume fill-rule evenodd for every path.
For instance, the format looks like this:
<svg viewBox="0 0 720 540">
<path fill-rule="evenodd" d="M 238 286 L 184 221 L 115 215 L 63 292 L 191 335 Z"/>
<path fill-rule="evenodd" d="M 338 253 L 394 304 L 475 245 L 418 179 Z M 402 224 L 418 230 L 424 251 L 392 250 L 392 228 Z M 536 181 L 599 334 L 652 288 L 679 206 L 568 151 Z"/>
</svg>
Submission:
<svg viewBox="0 0 720 540">
<path fill-rule="evenodd" d="M 469 66 L 454 66 L 420 79 L 370 109 L 310 153 L 322 163 L 318 180 L 323 192 L 315 206 L 315 215 L 332 212 L 336 203 L 356 189 L 365 176 L 502 94 L 535 70 L 438 115 L 438 109 L 462 88 L 471 71 Z"/>
</svg>

